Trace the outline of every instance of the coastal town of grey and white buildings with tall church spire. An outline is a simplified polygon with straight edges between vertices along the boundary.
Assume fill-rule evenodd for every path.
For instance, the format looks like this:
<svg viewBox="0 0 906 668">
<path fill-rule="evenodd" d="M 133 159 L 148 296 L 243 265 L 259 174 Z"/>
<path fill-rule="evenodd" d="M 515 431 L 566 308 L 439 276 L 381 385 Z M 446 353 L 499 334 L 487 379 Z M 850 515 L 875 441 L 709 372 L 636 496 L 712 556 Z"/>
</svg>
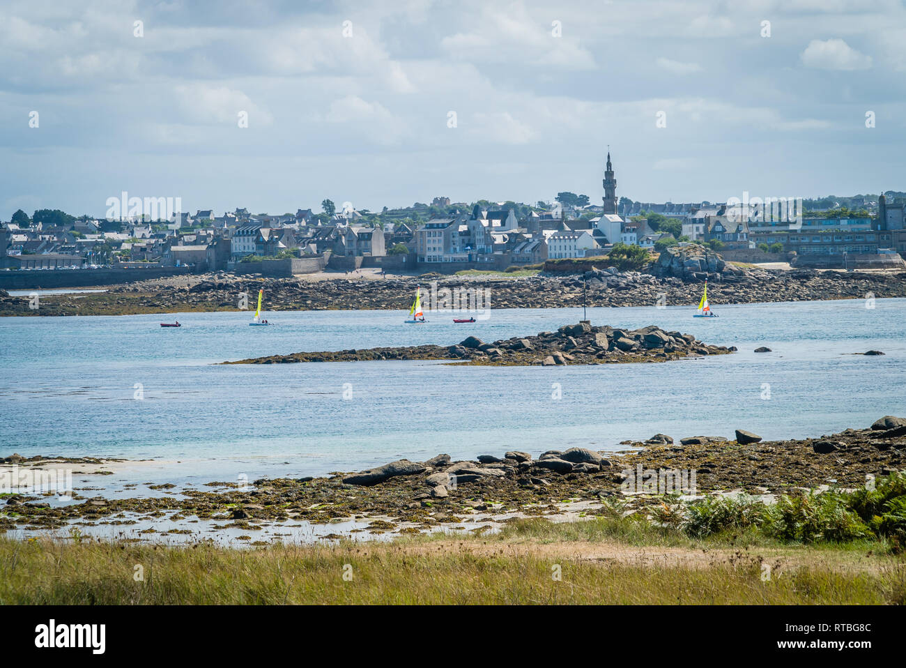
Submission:
<svg viewBox="0 0 906 668">
<path fill-rule="evenodd" d="M 798 268 L 902 269 L 906 193 L 802 199 L 728 198 L 675 204 L 617 198 L 610 152 L 602 204 L 562 191 L 552 202 L 431 203 L 381 212 L 337 208 L 251 214 L 212 209 L 171 218 L 149 213 L 74 217 L 59 209 L 15 211 L 0 224 L 0 269 L 80 270 L 60 285 L 101 285 L 174 272 L 292 276 L 361 268 L 382 274 L 513 271 L 547 260 L 602 257 L 614 247 L 652 253 L 699 245 L 729 261 Z M 136 210 L 157 210 L 135 198 Z M 163 200 L 164 198 L 160 198 Z M 113 201 L 119 205 L 117 198 Z M 123 207 L 130 198 L 123 193 Z M 163 207 L 161 207 L 163 208 Z M 111 274 L 109 269 L 133 270 Z M 141 273 L 144 272 L 144 273 Z M 0 275 L 0 287 L 5 278 Z M 51 276 L 19 279 L 53 286 Z M 75 281 L 75 283 L 72 283 Z M 7 285 L 13 286 L 14 283 Z M 24 285 L 23 285 L 24 286 Z"/>
</svg>

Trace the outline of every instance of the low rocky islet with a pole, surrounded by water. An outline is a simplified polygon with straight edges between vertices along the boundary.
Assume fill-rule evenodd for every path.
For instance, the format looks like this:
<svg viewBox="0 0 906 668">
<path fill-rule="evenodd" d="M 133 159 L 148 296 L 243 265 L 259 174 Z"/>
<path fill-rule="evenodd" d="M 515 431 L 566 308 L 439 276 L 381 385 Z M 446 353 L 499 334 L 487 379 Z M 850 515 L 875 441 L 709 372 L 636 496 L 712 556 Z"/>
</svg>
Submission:
<svg viewBox="0 0 906 668">
<path fill-rule="evenodd" d="M 468 336 L 459 344 L 417 345 L 397 348 L 322 351 L 268 355 L 225 364 L 282 364 L 297 362 L 366 362 L 378 360 L 449 360 L 484 366 L 525 366 L 540 364 L 604 364 L 667 362 L 684 357 L 727 354 L 735 347 L 701 343 L 692 334 L 665 332 L 655 325 L 637 330 L 564 324 L 556 332 L 536 336 L 515 336 L 486 344 Z"/>
</svg>

